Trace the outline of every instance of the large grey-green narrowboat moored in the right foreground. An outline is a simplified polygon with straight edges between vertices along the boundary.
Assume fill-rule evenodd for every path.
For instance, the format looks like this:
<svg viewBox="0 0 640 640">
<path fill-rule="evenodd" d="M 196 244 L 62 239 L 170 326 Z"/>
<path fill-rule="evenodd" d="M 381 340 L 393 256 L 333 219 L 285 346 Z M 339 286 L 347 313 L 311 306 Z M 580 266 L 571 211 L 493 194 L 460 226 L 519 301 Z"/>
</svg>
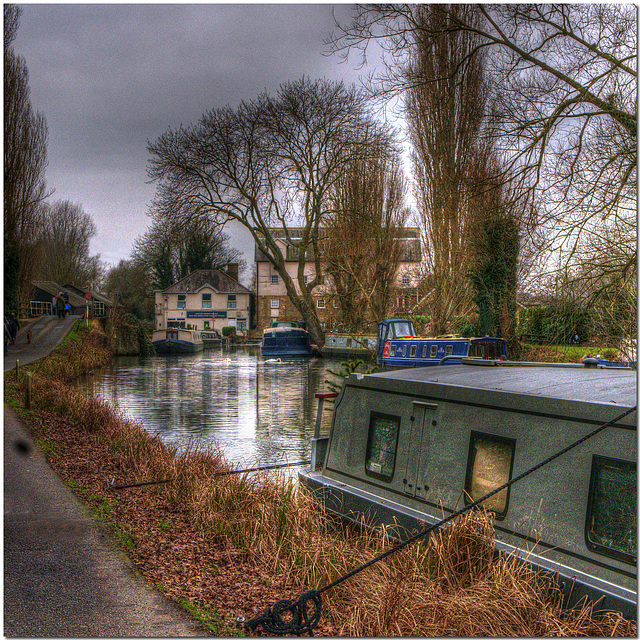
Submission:
<svg viewBox="0 0 640 640">
<path fill-rule="evenodd" d="M 330 512 L 403 538 L 631 409 L 483 504 L 496 549 L 552 573 L 567 606 L 587 596 L 635 620 L 636 386 L 625 369 L 479 359 L 351 374 L 300 481 Z"/>
</svg>

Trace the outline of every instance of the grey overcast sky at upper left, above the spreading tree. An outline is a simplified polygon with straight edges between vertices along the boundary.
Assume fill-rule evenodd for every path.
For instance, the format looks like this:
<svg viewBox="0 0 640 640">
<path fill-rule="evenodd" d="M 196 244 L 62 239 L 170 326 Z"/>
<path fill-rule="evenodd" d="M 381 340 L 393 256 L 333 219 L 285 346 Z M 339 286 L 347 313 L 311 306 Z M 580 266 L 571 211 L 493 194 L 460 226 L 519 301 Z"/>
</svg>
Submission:
<svg viewBox="0 0 640 640">
<path fill-rule="evenodd" d="M 323 55 L 346 4 L 17 4 L 13 47 L 49 128 L 50 200 L 83 206 L 98 227 L 91 252 L 110 264 L 150 223 L 147 141 L 303 75 L 362 74 Z M 246 251 L 247 232 L 230 231 Z"/>
</svg>

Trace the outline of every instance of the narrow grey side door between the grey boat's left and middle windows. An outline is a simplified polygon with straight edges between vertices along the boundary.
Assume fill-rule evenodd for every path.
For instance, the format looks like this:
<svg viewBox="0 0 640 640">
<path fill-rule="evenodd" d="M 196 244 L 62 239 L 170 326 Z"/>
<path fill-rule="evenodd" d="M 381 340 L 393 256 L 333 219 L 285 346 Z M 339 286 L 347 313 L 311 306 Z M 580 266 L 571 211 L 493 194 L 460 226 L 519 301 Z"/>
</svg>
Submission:
<svg viewBox="0 0 640 640">
<path fill-rule="evenodd" d="M 434 402 L 413 402 L 407 466 L 402 483 L 406 494 L 420 500 L 426 500 L 429 492 L 429 465 L 437 409 L 438 405 Z"/>
</svg>

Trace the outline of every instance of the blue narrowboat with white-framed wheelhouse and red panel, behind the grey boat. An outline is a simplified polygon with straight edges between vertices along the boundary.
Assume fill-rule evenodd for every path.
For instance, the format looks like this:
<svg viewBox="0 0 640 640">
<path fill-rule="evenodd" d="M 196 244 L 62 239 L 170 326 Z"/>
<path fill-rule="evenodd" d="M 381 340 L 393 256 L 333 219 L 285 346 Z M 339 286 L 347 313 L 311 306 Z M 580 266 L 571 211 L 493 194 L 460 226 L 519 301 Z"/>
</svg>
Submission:
<svg viewBox="0 0 640 640">
<path fill-rule="evenodd" d="M 385 368 L 459 364 L 462 358 L 507 358 L 503 338 L 418 338 L 411 320 L 390 318 L 378 323 L 377 364 Z"/>
</svg>

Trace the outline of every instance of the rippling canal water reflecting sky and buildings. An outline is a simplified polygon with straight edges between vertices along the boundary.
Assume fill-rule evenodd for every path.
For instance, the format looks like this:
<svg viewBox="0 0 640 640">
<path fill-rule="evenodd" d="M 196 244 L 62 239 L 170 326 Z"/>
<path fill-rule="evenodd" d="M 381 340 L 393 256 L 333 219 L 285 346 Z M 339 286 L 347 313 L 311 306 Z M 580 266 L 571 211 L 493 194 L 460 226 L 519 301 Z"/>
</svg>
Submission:
<svg viewBox="0 0 640 640">
<path fill-rule="evenodd" d="M 192 441 L 221 448 L 234 465 L 308 460 L 318 400 L 329 391 L 322 358 L 273 362 L 255 347 L 210 349 L 194 355 L 119 357 L 82 380 L 83 393 L 100 396 L 167 444 Z M 327 408 L 329 410 L 327 410 Z M 325 402 L 322 433 L 331 425 Z"/>
</svg>

